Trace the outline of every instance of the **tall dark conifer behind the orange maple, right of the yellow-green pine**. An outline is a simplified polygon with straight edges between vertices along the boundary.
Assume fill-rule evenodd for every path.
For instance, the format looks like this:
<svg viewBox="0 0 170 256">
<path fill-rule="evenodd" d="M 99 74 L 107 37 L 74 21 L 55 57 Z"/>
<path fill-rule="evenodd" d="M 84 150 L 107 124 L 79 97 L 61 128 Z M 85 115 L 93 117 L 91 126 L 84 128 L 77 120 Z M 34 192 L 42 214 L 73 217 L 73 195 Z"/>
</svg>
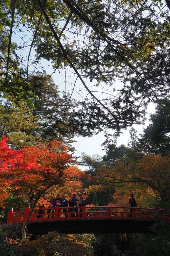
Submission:
<svg viewBox="0 0 170 256">
<path fill-rule="evenodd" d="M 69 100 L 69 94 L 60 97 L 57 85 L 50 75 L 37 73 L 29 77 L 30 84 L 35 94 L 33 116 L 37 116 L 39 126 L 34 133 L 43 141 L 56 139 L 64 141 L 73 151 L 70 143 L 77 130 L 70 123 L 70 116 L 77 106 L 76 101 Z"/>
</svg>

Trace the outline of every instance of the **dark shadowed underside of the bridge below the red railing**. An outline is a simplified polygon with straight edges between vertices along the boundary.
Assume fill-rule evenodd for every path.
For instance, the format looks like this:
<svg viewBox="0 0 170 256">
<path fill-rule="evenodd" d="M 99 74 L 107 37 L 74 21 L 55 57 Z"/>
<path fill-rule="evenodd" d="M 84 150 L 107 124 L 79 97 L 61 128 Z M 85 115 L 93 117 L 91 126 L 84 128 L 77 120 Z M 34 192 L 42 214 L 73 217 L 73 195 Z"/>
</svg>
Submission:
<svg viewBox="0 0 170 256">
<path fill-rule="evenodd" d="M 78 220 L 51 220 L 30 222 L 27 224 L 27 233 L 45 234 L 57 231 L 59 233 L 151 233 L 150 227 L 154 220 L 129 218 L 117 219 L 78 219 Z"/>
</svg>

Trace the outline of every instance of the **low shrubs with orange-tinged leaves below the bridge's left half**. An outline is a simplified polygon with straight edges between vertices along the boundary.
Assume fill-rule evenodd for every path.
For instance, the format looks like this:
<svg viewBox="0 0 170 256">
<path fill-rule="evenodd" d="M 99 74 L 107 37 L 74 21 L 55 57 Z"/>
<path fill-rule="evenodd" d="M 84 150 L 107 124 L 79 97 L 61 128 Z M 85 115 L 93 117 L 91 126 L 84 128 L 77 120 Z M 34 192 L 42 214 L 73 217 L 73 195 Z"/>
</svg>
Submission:
<svg viewBox="0 0 170 256">
<path fill-rule="evenodd" d="M 93 234 L 45 234 L 19 243 L 23 256 L 95 256 L 98 242 Z"/>
</svg>

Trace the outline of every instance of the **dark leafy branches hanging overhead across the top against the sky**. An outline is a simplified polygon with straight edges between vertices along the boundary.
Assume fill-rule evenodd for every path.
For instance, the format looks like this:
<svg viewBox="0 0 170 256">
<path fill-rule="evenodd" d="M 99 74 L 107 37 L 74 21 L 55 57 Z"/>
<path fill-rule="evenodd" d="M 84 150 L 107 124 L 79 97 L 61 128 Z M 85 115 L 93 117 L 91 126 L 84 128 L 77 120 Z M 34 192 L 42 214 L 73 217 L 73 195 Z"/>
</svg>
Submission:
<svg viewBox="0 0 170 256">
<path fill-rule="evenodd" d="M 71 85 L 70 98 L 81 96 L 69 119 L 79 134 L 143 122 L 147 104 L 169 92 L 168 7 L 169 1 L 3 0 L 1 93 L 31 104 L 29 77 L 44 74 L 46 60 Z"/>
</svg>

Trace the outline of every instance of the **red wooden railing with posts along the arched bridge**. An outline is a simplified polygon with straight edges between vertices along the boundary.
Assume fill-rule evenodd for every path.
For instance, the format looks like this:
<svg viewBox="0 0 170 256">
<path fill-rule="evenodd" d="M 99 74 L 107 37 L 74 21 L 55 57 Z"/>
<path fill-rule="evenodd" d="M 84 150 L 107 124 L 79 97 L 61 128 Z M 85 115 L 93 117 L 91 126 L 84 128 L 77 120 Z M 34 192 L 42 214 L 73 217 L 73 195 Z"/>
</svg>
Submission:
<svg viewBox="0 0 170 256">
<path fill-rule="evenodd" d="M 13 212 L 13 208 L 9 211 L 8 224 L 22 223 L 28 213 L 30 207 L 26 207 L 25 211 Z M 36 208 L 31 214 L 29 222 L 34 221 L 54 221 L 62 219 L 91 219 L 91 218 L 142 218 L 153 219 L 162 217 L 164 220 L 170 220 L 170 210 L 151 209 L 151 208 L 132 208 L 118 206 L 87 206 L 87 207 L 55 207 L 55 208 Z"/>
</svg>

